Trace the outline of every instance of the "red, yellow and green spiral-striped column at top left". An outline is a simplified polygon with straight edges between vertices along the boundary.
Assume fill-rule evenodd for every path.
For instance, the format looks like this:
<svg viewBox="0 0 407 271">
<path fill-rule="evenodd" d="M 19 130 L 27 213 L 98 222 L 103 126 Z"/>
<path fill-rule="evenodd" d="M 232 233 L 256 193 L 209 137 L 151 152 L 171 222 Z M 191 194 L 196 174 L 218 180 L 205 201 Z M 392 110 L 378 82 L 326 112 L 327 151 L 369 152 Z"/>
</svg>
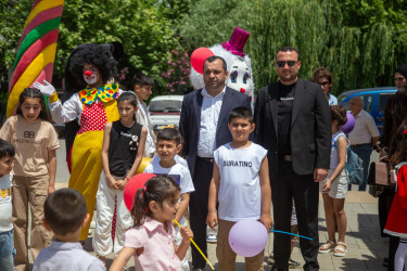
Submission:
<svg viewBox="0 0 407 271">
<path fill-rule="evenodd" d="M 9 86 L 7 116 L 13 115 L 21 92 L 43 79 L 52 81 L 64 0 L 36 0 L 24 25 Z"/>
</svg>

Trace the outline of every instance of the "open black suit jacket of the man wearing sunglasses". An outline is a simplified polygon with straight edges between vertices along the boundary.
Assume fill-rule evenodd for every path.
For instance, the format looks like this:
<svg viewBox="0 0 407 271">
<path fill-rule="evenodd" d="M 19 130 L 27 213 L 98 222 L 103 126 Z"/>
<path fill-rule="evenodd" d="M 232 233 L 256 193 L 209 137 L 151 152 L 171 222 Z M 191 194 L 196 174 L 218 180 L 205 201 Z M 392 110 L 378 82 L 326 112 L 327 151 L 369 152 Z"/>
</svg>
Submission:
<svg viewBox="0 0 407 271">
<path fill-rule="evenodd" d="M 258 90 L 254 107 L 255 141 L 268 150 L 270 179 L 278 171 L 278 82 Z M 291 156 L 297 175 L 329 169 L 331 112 L 321 87 L 298 78 L 291 115 Z"/>
</svg>

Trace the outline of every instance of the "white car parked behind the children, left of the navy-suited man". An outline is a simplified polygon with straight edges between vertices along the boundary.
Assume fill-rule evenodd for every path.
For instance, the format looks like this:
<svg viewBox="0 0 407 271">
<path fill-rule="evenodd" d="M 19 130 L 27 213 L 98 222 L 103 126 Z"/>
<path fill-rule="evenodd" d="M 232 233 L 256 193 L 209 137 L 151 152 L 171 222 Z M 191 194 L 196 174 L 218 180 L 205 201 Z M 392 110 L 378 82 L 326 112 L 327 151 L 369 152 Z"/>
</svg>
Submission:
<svg viewBox="0 0 407 271">
<path fill-rule="evenodd" d="M 162 126 L 175 125 L 178 127 L 181 115 L 183 95 L 154 96 L 148 106 L 154 131 Z"/>
</svg>

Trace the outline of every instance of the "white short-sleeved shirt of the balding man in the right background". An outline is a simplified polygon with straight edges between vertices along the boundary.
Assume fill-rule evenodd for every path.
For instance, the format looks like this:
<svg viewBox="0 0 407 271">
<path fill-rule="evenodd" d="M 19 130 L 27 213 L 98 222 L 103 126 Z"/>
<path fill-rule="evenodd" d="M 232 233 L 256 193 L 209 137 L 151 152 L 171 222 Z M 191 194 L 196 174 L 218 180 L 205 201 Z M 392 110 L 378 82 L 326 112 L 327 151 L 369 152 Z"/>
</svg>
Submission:
<svg viewBox="0 0 407 271">
<path fill-rule="evenodd" d="M 374 124 L 373 117 L 366 111 L 361 109 L 355 116 L 355 127 L 348 134 L 351 144 L 370 144 L 371 139 L 379 136 L 380 133 Z"/>
</svg>

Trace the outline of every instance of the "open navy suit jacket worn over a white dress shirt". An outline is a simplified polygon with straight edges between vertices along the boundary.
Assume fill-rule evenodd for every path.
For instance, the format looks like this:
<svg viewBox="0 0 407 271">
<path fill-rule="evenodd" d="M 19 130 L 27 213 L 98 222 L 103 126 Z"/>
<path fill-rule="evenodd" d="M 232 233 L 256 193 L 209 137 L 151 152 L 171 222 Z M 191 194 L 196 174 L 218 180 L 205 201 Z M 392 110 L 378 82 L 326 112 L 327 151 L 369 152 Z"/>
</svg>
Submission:
<svg viewBox="0 0 407 271">
<path fill-rule="evenodd" d="M 179 131 L 183 138 L 182 154 L 186 156 L 191 176 L 193 176 L 195 169 L 202 101 L 202 89 L 185 95 L 179 120 Z M 238 106 L 251 108 L 249 96 L 226 87 L 216 128 L 216 147 L 232 141 L 232 136 L 228 129 L 229 113 Z"/>
</svg>

